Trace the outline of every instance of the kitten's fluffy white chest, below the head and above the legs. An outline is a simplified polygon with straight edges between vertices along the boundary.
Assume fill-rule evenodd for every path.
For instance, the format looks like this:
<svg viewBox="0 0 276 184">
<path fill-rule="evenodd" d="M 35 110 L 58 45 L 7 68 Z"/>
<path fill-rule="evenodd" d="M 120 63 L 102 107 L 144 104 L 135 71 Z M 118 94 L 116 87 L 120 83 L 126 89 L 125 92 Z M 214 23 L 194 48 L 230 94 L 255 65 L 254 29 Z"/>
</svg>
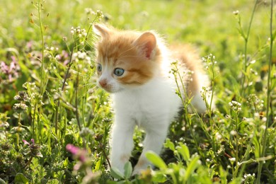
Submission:
<svg viewBox="0 0 276 184">
<path fill-rule="evenodd" d="M 122 115 L 130 119 L 126 123 L 134 120 L 144 128 L 164 118 L 169 124 L 181 104 L 171 79 L 152 79 L 143 86 L 115 93 L 113 98 L 115 116 Z"/>
</svg>

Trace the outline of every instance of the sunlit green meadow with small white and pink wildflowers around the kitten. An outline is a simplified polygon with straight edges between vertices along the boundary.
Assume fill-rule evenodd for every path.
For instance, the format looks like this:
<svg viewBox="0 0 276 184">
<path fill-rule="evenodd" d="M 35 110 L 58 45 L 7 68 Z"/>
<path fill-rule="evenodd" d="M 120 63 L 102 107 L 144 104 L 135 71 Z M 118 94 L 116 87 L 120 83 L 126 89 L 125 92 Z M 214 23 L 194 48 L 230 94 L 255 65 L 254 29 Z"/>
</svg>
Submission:
<svg viewBox="0 0 276 184">
<path fill-rule="evenodd" d="M 272 2 L 0 0 L 0 183 L 276 183 Z M 193 45 L 212 81 L 202 96 L 216 108 L 183 101 L 139 176 L 140 130 L 125 172 L 108 169 L 113 110 L 96 86 L 93 23 Z"/>
</svg>

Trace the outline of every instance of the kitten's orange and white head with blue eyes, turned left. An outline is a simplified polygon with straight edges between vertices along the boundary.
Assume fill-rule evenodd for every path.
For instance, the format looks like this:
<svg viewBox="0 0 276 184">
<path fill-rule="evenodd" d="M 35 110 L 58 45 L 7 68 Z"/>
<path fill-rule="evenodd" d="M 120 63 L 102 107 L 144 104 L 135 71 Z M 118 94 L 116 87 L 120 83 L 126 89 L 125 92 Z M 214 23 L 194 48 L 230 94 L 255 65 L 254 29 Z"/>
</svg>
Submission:
<svg viewBox="0 0 276 184">
<path fill-rule="evenodd" d="M 121 31 L 94 25 L 98 86 L 110 93 L 141 86 L 159 70 L 160 51 L 155 33 Z"/>
</svg>

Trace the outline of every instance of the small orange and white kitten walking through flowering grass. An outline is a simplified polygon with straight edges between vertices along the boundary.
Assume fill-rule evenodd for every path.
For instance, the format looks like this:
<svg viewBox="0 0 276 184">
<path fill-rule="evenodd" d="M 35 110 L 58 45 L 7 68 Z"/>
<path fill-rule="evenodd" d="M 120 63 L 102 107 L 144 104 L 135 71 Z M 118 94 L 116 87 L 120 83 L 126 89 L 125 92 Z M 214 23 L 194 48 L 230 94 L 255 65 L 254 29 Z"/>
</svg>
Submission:
<svg viewBox="0 0 276 184">
<path fill-rule="evenodd" d="M 200 91 L 209 82 L 195 54 L 179 46 L 169 51 L 153 31 L 116 30 L 100 24 L 94 25 L 94 31 L 101 37 L 96 43 L 98 86 L 112 93 L 115 110 L 111 167 L 123 173 L 134 148 L 134 127 L 138 126 L 146 132 L 144 149 L 133 174 L 139 173 L 149 166 L 147 151 L 160 153 L 168 126 L 181 108 L 176 81 L 169 77 L 171 62 L 178 59 L 183 62 L 183 71 L 192 71 L 191 79 L 184 77 L 186 83 L 190 81 L 187 91 L 199 113 L 206 109 Z"/>
</svg>

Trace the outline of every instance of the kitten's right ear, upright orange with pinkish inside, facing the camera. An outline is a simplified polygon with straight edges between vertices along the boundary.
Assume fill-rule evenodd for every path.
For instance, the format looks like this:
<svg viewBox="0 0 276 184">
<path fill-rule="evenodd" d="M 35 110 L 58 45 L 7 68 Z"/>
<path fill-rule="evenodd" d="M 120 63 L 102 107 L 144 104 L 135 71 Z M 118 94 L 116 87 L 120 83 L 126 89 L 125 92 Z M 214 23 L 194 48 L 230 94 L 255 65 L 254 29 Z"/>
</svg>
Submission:
<svg viewBox="0 0 276 184">
<path fill-rule="evenodd" d="M 154 33 L 149 31 L 143 33 L 142 35 L 134 41 L 134 44 L 142 49 L 144 56 L 148 59 L 154 57 L 156 48 L 156 37 Z"/>
</svg>

